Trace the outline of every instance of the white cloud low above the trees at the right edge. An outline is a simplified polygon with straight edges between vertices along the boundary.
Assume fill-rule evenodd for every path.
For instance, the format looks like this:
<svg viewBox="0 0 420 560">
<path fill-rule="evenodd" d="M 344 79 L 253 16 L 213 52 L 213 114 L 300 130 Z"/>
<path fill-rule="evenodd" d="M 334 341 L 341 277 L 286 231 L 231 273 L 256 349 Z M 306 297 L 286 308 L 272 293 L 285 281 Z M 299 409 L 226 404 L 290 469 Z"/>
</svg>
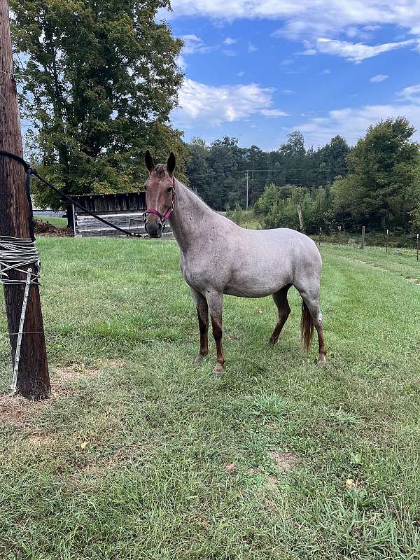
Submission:
<svg viewBox="0 0 420 560">
<path fill-rule="evenodd" d="M 420 130 L 420 104 L 414 103 L 335 109 L 326 116 L 310 118 L 295 128 L 304 134 L 306 143 L 314 146 L 323 146 L 337 134 L 341 134 L 349 144 L 356 144 L 356 141 L 365 135 L 369 125 L 374 125 L 381 119 L 398 116 L 407 117 L 416 130 Z M 414 134 L 414 139 L 420 140 L 420 132 Z"/>
</svg>

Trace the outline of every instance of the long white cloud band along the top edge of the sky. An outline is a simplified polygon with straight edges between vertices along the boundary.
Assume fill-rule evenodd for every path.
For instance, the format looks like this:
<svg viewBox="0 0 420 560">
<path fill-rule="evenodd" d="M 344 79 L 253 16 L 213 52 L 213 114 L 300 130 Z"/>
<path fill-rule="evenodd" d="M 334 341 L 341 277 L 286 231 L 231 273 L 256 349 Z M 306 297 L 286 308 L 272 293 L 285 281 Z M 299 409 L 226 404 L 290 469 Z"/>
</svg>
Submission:
<svg viewBox="0 0 420 560">
<path fill-rule="evenodd" d="M 378 25 L 388 24 L 420 34 L 420 0 L 172 0 L 172 10 L 162 15 L 216 21 L 283 20 L 279 32 L 293 38 L 341 31 L 354 36 L 358 28 L 374 31 Z"/>
</svg>

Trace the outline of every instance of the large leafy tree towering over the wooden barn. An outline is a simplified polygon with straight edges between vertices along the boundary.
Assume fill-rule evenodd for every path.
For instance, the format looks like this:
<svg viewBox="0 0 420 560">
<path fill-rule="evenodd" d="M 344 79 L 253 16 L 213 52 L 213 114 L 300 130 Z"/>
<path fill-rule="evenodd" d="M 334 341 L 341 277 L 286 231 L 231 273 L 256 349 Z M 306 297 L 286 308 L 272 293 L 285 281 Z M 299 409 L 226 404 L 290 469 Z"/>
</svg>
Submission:
<svg viewBox="0 0 420 560">
<path fill-rule="evenodd" d="M 156 22 L 168 0 L 10 0 L 22 116 L 41 171 L 70 195 L 139 190 L 143 153 L 176 153 L 169 126 L 182 42 Z M 41 204 L 57 195 L 38 190 Z M 71 213 L 69 213 L 69 217 Z"/>
</svg>

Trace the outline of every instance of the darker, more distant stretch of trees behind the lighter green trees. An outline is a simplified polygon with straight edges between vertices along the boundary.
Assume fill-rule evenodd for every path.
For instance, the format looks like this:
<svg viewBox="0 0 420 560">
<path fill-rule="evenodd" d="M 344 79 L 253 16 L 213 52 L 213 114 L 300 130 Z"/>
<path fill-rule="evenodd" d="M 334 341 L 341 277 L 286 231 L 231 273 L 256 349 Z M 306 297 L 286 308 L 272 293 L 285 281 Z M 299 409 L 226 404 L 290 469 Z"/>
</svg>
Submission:
<svg viewBox="0 0 420 560">
<path fill-rule="evenodd" d="M 246 206 L 247 175 L 250 206 L 271 183 L 309 189 L 332 183 L 335 177 L 347 174 L 346 156 L 350 152 L 340 136 L 323 148 L 306 149 L 298 131 L 288 134 L 286 144 L 270 152 L 258 146 L 240 148 L 237 139 L 230 137 L 211 145 L 195 138 L 187 148 L 186 174 L 190 188 L 216 210 Z"/>
</svg>

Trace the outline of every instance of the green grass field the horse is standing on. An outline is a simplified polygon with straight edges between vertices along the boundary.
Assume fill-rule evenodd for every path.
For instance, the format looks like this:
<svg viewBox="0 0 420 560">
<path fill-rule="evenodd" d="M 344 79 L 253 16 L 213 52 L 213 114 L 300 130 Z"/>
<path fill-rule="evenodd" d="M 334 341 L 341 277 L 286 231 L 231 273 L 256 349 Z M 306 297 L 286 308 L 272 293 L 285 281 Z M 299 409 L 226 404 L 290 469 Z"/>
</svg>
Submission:
<svg viewBox="0 0 420 560">
<path fill-rule="evenodd" d="M 0 400 L 1 559 L 419 559 L 413 252 L 321 246 L 325 368 L 295 290 L 274 347 L 272 300 L 225 297 L 216 380 L 174 241 L 38 248 L 54 396 Z"/>
</svg>

